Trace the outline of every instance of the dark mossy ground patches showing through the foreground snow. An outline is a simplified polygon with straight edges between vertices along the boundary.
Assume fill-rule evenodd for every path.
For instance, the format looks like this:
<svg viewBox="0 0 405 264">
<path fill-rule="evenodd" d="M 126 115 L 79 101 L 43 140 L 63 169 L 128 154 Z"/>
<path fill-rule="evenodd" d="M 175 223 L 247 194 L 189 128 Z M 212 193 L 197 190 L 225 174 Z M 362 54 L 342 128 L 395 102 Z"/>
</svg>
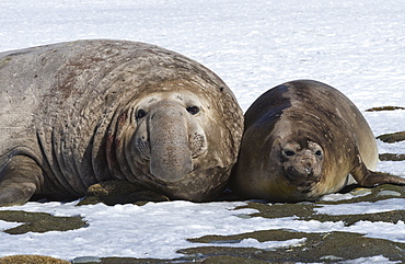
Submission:
<svg viewBox="0 0 405 264">
<path fill-rule="evenodd" d="M 385 221 L 396 223 L 405 219 L 404 210 L 393 210 L 379 214 L 361 215 L 321 215 L 315 214 L 315 208 L 322 205 L 349 204 L 358 202 L 377 202 L 387 198 L 405 198 L 405 190 L 401 186 L 381 185 L 374 188 L 354 188 L 350 191 L 355 198 L 339 202 L 316 202 L 299 204 L 276 204 L 268 206 L 264 203 L 250 202 L 243 208 L 254 208 L 257 213 L 243 217 L 281 218 L 296 216 L 297 219 L 310 221 L 344 221 L 346 226 L 354 225 L 360 220 Z M 241 208 L 241 207 L 240 207 Z M 240 209 L 235 208 L 235 209 Z M 24 232 L 47 232 L 51 230 L 66 231 L 70 229 L 85 228 L 88 223 L 80 217 L 55 217 L 45 213 L 25 211 L 0 211 L 0 219 L 5 221 L 25 222 L 20 227 L 4 230 L 10 234 Z M 253 238 L 261 242 L 285 241 L 291 239 L 306 238 L 302 243 L 293 246 L 278 249 L 253 249 L 253 248 L 227 248 L 221 243 L 238 243 L 243 239 Z M 405 260 L 405 244 L 392 242 L 384 239 L 367 238 L 352 232 L 327 232 L 305 233 L 294 230 L 264 230 L 236 236 L 206 236 L 197 239 L 189 239 L 189 242 L 219 244 L 219 246 L 196 246 L 180 250 L 184 257 L 176 260 L 139 260 L 128 257 L 78 257 L 72 263 L 336 263 L 338 261 L 355 260 L 359 257 L 383 255 L 390 261 Z M 19 263 L 16 260 L 28 256 L 14 256 L 13 262 L 8 259 L 0 259 L 1 263 Z M 28 262 L 21 262 L 28 263 Z M 31 263 L 31 262 L 30 262 Z M 47 260 L 40 263 L 57 263 L 55 260 Z"/>
</svg>

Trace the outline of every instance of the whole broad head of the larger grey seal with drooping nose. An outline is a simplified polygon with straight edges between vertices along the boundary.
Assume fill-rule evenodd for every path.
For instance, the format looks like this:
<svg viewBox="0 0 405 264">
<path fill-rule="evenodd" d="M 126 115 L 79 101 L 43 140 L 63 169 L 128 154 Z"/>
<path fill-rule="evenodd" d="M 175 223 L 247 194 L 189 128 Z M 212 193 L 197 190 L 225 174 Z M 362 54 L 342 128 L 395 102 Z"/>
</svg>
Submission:
<svg viewBox="0 0 405 264">
<path fill-rule="evenodd" d="M 201 83 L 163 81 L 128 99 L 108 145 L 115 177 L 171 199 L 202 202 L 222 192 L 236 161 L 242 114 L 228 88 L 205 92 Z"/>
</svg>

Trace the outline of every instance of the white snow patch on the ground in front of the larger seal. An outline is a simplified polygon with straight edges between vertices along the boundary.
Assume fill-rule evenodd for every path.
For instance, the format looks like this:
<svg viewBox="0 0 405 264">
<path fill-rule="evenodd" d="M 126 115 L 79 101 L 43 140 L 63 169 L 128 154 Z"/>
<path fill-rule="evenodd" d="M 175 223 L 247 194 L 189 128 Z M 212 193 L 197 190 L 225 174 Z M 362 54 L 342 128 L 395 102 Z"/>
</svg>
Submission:
<svg viewBox="0 0 405 264">
<path fill-rule="evenodd" d="M 80 215 L 89 221 L 86 228 L 65 231 L 25 234 L 0 232 L 2 254 L 46 254 L 62 259 L 77 256 L 134 256 L 173 259 L 182 256 L 175 253 L 180 249 L 207 245 L 187 242 L 186 239 L 206 234 L 238 234 L 255 230 L 288 228 L 294 229 L 297 221 L 288 219 L 244 218 L 254 209 L 236 209 L 245 203 L 206 203 L 190 202 L 148 203 L 144 206 L 103 204 L 74 207 L 74 203 L 27 203 L 12 210 L 45 211 L 55 216 Z M 15 223 L 18 226 L 18 223 Z M 0 222 L 0 230 L 10 228 L 10 223 Z M 343 223 L 317 221 L 309 222 L 301 230 L 325 232 L 343 228 Z M 268 241 L 261 243 L 254 239 L 238 243 L 212 243 L 210 245 L 274 249 L 302 243 L 305 239 L 288 241 Z M 69 241 L 69 248 L 66 246 Z M 22 243 L 30 245 L 22 246 Z"/>
</svg>

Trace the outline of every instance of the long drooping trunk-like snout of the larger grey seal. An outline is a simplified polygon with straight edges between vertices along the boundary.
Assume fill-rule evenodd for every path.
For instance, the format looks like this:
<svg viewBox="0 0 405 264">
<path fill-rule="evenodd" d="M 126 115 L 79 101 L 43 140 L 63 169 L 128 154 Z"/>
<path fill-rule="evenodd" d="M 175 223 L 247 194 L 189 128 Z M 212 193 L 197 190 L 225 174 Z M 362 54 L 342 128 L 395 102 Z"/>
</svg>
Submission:
<svg viewBox="0 0 405 264">
<path fill-rule="evenodd" d="M 135 145 L 154 179 L 175 183 L 198 167 L 196 159 L 208 151 L 206 134 L 195 118 L 199 110 L 162 100 L 137 114 Z"/>
</svg>

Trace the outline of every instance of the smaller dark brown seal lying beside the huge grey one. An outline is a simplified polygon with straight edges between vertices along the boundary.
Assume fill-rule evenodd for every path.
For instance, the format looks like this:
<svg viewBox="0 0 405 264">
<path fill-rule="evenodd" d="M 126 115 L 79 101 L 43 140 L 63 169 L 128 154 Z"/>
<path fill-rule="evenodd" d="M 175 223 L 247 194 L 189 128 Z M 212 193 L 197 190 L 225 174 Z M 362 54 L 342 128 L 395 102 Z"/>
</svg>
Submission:
<svg viewBox="0 0 405 264">
<path fill-rule="evenodd" d="M 315 200 L 354 180 L 367 187 L 405 184 L 369 170 L 378 162 L 374 136 L 355 104 L 327 84 L 297 80 L 273 88 L 250 106 L 244 124 L 231 180 L 244 197 Z"/>
</svg>

